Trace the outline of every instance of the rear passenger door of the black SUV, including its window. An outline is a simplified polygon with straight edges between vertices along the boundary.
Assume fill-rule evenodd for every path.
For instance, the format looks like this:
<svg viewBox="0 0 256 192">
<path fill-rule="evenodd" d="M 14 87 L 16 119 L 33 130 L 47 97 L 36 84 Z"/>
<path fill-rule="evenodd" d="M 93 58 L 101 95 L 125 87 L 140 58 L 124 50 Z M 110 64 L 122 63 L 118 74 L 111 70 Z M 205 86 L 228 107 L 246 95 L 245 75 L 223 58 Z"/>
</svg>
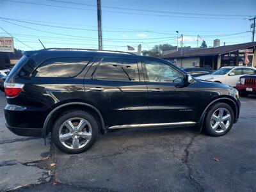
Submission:
<svg viewBox="0 0 256 192">
<path fill-rule="evenodd" d="M 136 58 L 99 58 L 86 74 L 84 98 L 103 111 L 107 127 L 147 119 L 147 86 L 138 64 Z"/>
</svg>

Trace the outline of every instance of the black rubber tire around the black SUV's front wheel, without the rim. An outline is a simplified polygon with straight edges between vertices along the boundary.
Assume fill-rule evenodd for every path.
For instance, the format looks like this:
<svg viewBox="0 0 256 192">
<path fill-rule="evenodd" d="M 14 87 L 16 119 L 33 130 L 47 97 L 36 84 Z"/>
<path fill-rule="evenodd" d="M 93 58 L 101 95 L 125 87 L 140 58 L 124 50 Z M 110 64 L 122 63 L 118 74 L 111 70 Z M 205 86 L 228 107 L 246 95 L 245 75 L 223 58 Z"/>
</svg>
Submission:
<svg viewBox="0 0 256 192">
<path fill-rule="evenodd" d="M 228 111 L 229 111 L 229 113 L 230 113 L 230 118 L 231 118 L 231 120 L 229 121 L 230 122 L 230 124 L 228 125 L 228 128 L 227 129 L 225 129 L 225 131 L 223 131 L 223 132 L 220 132 L 222 129 L 221 129 L 221 127 L 219 127 L 220 129 L 217 129 L 216 131 L 214 131 L 214 129 L 212 128 L 212 123 L 214 123 L 214 121 L 213 122 L 211 122 L 211 117 L 212 117 L 212 115 L 213 115 L 213 113 L 216 111 L 216 110 L 218 110 L 218 109 L 220 109 L 220 108 L 225 108 L 225 109 L 227 109 Z M 228 115 L 227 114 L 227 112 L 225 111 L 224 113 L 226 113 L 226 115 Z M 227 123 L 227 121 L 225 121 L 226 123 Z M 218 102 L 218 103 L 216 103 L 216 104 L 213 104 L 211 107 L 210 107 L 210 109 L 208 110 L 208 112 L 207 112 L 207 115 L 205 116 L 205 131 L 207 132 L 207 134 L 209 134 L 210 136 L 223 136 L 223 135 L 225 135 L 225 134 L 227 134 L 227 132 L 228 131 L 230 131 L 230 129 L 232 128 L 232 126 L 233 126 L 233 123 L 234 123 L 234 111 L 233 111 L 233 109 L 228 105 L 228 104 L 225 104 L 225 103 L 223 103 L 223 102 Z M 219 132 L 217 132 L 217 131 L 219 131 Z"/>
</svg>

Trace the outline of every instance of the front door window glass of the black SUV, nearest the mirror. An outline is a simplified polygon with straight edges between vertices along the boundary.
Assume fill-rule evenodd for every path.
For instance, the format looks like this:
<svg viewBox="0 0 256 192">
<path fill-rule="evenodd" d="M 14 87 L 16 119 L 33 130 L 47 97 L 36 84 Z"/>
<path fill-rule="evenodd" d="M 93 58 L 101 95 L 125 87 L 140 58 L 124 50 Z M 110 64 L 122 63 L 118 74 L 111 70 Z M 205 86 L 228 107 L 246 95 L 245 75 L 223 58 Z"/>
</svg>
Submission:
<svg viewBox="0 0 256 192">
<path fill-rule="evenodd" d="M 184 75 L 174 68 L 157 61 L 144 61 L 147 70 L 148 81 L 181 83 L 184 82 Z"/>
</svg>

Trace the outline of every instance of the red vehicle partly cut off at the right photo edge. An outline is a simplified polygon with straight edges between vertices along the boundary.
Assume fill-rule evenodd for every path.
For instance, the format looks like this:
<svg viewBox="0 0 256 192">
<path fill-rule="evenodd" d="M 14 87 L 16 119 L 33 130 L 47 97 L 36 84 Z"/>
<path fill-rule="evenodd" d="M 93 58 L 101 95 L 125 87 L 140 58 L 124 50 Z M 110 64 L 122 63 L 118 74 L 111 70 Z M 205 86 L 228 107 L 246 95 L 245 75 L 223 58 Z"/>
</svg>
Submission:
<svg viewBox="0 0 256 192">
<path fill-rule="evenodd" d="M 241 97 L 256 94 L 256 74 L 240 77 L 239 81 L 237 81 L 236 89 Z"/>
</svg>

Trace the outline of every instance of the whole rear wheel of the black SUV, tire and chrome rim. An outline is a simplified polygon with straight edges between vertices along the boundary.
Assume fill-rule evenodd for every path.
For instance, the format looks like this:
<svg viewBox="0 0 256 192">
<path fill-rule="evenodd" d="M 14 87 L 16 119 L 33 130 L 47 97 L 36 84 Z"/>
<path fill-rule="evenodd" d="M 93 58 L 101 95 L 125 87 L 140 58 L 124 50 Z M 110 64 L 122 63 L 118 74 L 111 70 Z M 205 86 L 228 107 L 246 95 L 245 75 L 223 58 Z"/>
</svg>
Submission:
<svg viewBox="0 0 256 192">
<path fill-rule="evenodd" d="M 92 147 L 97 138 L 97 120 L 84 111 L 68 111 L 52 129 L 52 140 L 63 152 L 78 154 Z"/>
</svg>

